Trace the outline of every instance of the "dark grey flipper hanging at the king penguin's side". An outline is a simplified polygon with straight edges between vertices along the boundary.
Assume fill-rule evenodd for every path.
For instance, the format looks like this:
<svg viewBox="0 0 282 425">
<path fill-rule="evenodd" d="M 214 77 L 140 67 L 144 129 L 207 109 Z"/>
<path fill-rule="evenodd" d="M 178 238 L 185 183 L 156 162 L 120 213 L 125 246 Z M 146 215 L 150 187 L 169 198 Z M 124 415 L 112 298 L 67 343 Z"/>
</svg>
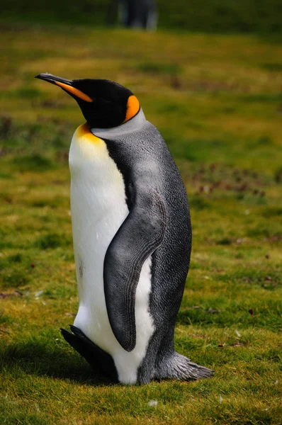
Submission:
<svg viewBox="0 0 282 425">
<path fill-rule="evenodd" d="M 162 243 L 166 228 L 167 210 L 157 191 L 137 193 L 106 252 L 103 278 L 108 319 L 126 351 L 136 344 L 135 292 L 141 268 Z"/>
</svg>

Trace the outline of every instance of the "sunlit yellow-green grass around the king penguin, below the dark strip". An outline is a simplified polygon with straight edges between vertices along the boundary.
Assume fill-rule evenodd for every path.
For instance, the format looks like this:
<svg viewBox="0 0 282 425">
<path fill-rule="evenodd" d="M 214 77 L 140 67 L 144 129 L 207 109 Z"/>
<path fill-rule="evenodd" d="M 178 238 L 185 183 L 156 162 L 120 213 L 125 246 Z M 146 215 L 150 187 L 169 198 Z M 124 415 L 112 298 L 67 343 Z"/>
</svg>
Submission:
<svg viewBox="0 0 282 425">
<path fill-rule="evenodd" d="M 5 38 L 0 422 L 280 424 L 281 45 L 47 26 Z M 176 348 L 215 378 L 112 385 L 60 336 L 78 305 L 67 152 L 82 118 L 33 79 L 46 71 L 129 86 L 167 140 L 193 223 Z"/>
</svg>

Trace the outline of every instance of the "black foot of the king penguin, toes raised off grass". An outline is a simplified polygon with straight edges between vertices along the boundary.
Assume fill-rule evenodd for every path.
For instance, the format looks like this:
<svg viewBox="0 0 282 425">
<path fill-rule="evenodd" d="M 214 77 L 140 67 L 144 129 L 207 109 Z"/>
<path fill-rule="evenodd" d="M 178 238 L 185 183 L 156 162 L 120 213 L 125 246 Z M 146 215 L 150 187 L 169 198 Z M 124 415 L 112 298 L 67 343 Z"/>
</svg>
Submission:
<svg viewBox="0 0 282 425">
<path fill-rule="evenodd" d="M 72 332 L 61 329 L 64 339 L 76 350 L 92 368 L 101 368 L 105 375 L 118 382 L 118 375 L 115 369 L 115 363 L 110 354 L 96 346 L 86 335 L 77 327 L 70 325 Z"/>
</svg>

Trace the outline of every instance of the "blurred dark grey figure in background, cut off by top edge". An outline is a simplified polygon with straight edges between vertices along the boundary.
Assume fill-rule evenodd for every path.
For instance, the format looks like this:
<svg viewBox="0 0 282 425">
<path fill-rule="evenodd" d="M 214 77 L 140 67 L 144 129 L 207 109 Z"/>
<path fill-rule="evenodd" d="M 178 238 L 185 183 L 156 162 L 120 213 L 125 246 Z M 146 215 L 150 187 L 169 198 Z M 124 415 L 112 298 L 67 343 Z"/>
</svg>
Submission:
<svg viewBox="0 0 282 425">
<path fill-rule="evenodd" d="M 118 21 L 127 28 L 157 28 L 156 0 L 113 0 L 108 8 L 108 23 L 114 23 L 117 11 Z"/>
</svg>

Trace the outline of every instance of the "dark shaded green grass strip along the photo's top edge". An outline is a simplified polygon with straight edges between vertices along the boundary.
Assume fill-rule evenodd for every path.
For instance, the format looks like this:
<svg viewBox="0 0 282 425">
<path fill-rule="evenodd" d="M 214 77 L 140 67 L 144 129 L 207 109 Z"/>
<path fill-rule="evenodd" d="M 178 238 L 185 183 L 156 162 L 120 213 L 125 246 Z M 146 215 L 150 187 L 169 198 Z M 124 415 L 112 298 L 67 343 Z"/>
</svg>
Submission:
<svg viewBox="0 0 282 425">
<path fill-rule="evenodd" d="M 6 1 L 0 22 L 6 27 L 11 20 L 19 22 L 67 23 L 69 25 L 104 26 L 118 13 L 108 13 L 113 0 L 69 0 L 67 7 L 55 0 Z M 280 0 L 158 0 L 159 28 L 205 31 L 208 33 L 281 34 L 282 6 Z M 36 55 L 38 50 L 32 52 Z"/>
</svg>

